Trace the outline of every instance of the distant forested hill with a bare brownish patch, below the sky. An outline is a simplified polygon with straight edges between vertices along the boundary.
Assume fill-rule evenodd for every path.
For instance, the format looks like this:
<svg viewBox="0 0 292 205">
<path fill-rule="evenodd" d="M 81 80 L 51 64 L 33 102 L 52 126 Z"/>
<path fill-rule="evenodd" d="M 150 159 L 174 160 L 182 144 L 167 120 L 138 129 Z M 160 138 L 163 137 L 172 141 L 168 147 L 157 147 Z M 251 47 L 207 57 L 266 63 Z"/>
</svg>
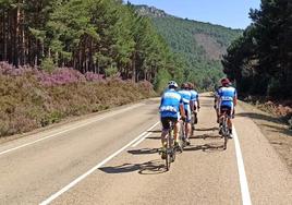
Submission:
<svg viewBox="0 0 292 205">
<path fill-rule="evenodd" d="M 185 61 L 187 81 L 200 88 L 209 88 L 223 75 L 221 58 L 228 46 L 242 35 L 210 23 L 184 20 L 167 14 L 154 7 L 135 5 L 139 15 L 149 16 L 171 49 Z"/>
</svg>

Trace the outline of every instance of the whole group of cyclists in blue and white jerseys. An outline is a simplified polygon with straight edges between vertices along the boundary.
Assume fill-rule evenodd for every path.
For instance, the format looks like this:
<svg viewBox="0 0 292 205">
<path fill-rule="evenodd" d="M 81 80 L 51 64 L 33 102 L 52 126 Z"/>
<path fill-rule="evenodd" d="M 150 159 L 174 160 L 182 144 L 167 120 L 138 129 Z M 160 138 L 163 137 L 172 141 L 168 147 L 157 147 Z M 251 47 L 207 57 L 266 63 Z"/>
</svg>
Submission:
<svg viewBox="0 0 292 205">
<path fill-rule="evenodd" d="M 236 89 L 231 86 L 231 82 L 228 79 L 220 81 L 220 86 L 215 91 L 215 109 L 217 113 L 217 122 L 219 128 L 221 126 L 220 116 L 222 110 L 227 111 L 230 118 L 228 119 L 228 128 L 230 138 L 232 138 L 232 121 L 234 118 L 234 107 L 236 106 Z M 168 88 L 161 96 L 160 101 L 160 120 L 162 124 L 161 143 L 162 149 L 166 148 L 166 137 L 169 133 L 170 122 L 173 124 L 174 147 L 180 146 L 179 132 L 181 129 L 180 121 L 184 122 L 184 135 L 186 145 L 191 145 L 190 136 L 194 124 L 197 123 L 197 112 L 199 111 L 199 98 L 198 93 L 194 89 L 194 84 L 183 83 L 179 88 L 179 85 L 174 81 L 170 81 Z M 193 119 L 193 120 L 192 120 Z M 219 134 L 221 129 L 219 129 Z M 162 159 L 166 157 L 161 155 Z"/>
</svg>

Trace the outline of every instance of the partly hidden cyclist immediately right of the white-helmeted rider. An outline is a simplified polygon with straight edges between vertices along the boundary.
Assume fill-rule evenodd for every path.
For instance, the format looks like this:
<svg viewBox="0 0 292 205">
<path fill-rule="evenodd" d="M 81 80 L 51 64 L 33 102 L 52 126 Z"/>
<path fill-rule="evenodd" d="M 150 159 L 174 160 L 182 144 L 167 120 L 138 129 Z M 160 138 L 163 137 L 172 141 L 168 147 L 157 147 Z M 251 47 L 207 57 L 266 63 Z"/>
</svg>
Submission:
<svg viewBox="0 0 292 205">
<path fill-rule="evenodd" d="M 190 135 L 191 135 L 191 132 L 192 132 L 192 126 L 191 126 L 191 121 L 192 121 L 192 113 L 191 113 L 191 106 L 190 106 L 190 102 L 191 102 L 191 97 L 192 97 L 192 94 L 190 92 L 190 87 L 188 87 L 188 84 L 187 83 L 183 83 L 182 86 L 181 86 L 181 91 L 179 91 L 179 93 L 181 94 L 182 96 L 182 99 L 183 99 L 183 105 L 184 105 L 184 113 L 185 113 L 185 119 L 182 119 L 184 120 L 185 122 L 185 141 L 186 141 L 186 145 L 191 145 L 191 142 L 190 142 Z"/>
</svg>

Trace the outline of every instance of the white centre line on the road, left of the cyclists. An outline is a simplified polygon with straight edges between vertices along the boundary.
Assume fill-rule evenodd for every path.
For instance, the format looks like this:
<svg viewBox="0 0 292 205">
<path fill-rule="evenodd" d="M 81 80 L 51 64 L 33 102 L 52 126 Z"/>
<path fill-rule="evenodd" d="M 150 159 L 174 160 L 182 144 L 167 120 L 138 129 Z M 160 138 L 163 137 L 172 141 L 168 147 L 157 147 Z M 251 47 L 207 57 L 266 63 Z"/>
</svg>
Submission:
<svg viewBox="0 0 292 205">
<path fill-rule="evenodd" d="M 155 123 L 147 131 L 149 131 L 153 128 L 155 128 L 158 123 L 159 122 Z M 146 132 L 144 132 L 144 133 L 146 133 Z M 97 164 L 95 167 L 93 167 L 90 170 L 88 170 L 84 174 L 80 176 L 77 179 L 75 179 L 74 181 L 72 181 L 71 183 L 69 183 L 66 186 L 62 188 L 60 191 L 56 192 L 54 194 L 52 194 L 51 196 L 49 196 L 47 200 L 45 200 L 41 203 L 39 203 L 39 205 L 50 204 L 53 200 L 56 200 L 61 194 L 63 194 L 64 192 L 66 192 L 68 190 L 70 190 L 74 185 L 76 185 L 78 182 L 81 182 L 82 180 L 84 180 L 87 176 L 92 174 L 94 171 L 96 171 L 101 166 L 104 166 L 105 164 L 107 164 L 108 161 L 110 161 L 113 157 L 115 157 L 117 155 L 119 155 L 120 153 L 122 153 L 124 149 L 126 149 L 133 143 L 135 143 L 136 141 L 138 141 L 144 135 L 144 133 L 142 133 L 141 135 L 138 135 L 137 137 L 135 137 L 133 141 L 131 141 L 130 143 L 127 143 L 125 146 L 123 146 L 122 148 L 120 148 L 119 150 L 117 150 L 115 153 L 113 153 L 112 155 L 110 155 L 109 157 L 107 157 L 106 159 L 104 159 L 101 162 Z"/>
</svg>

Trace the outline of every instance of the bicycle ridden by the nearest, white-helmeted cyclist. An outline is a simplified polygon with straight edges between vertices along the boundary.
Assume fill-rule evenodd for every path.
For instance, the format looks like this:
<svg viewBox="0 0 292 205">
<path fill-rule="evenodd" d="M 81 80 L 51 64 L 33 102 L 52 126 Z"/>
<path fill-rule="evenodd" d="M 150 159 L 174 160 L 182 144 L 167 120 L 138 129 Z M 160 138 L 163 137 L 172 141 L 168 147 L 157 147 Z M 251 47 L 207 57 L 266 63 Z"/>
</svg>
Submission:
<svg viewBox="0 0 292 205">
<path fill-rule="evenodd" d="M 174 148 L 174 138 L 173 138 L 173 122 L 169 121 L 169 123 L 170 123 L 170 126 L 169 126 L 170 129 L 167 135 L 167 146 L 166 146 L 166 149 L 163 150 L 166 154 L 167 171 L 169 171 L 170 169 L 170 164 L 175 160 L 175 154 L 177 154 L 177 150 Z"/>
</svg>

